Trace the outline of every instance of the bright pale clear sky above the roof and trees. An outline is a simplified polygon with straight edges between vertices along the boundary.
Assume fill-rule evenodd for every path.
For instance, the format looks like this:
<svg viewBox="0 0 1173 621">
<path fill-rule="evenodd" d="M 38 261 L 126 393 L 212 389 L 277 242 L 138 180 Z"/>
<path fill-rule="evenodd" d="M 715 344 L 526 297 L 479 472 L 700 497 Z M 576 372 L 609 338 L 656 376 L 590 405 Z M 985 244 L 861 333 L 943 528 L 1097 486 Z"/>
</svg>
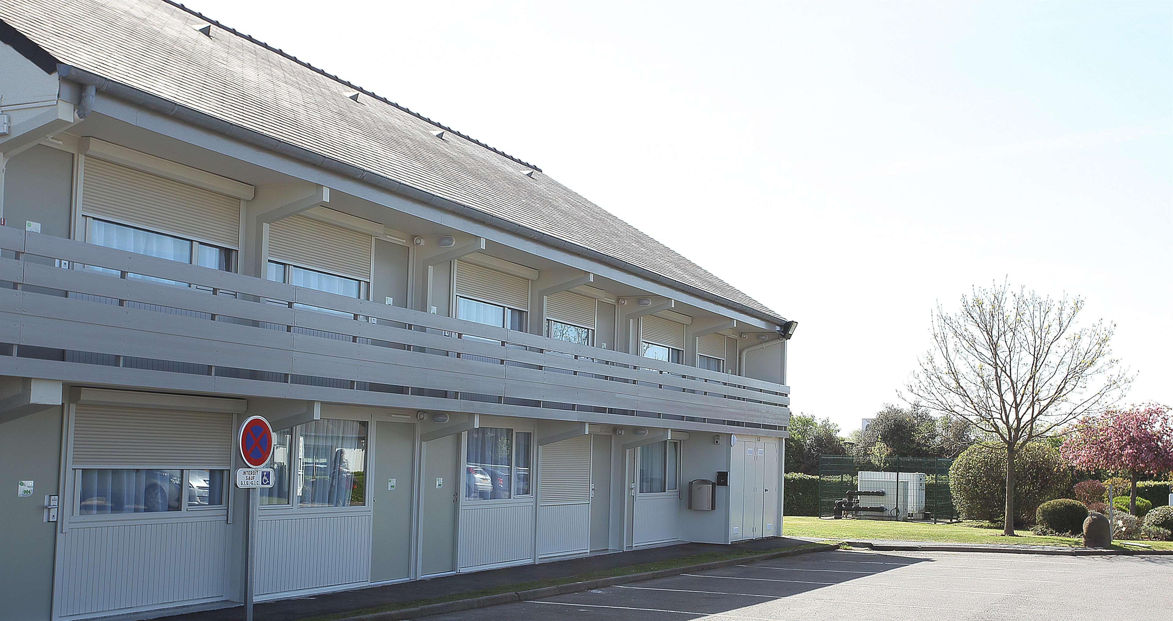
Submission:
<svg viewBox="0 0 1173 621">
<path fill-rule="evenodd" d="M 896 402 L 937 301 L 1003 279 L 1084 296 L 1128 401 L 1173 404 L 1171 2 L 188 6 L 796 319 L 793 410 L 845 432 Z"/>
</svg>

